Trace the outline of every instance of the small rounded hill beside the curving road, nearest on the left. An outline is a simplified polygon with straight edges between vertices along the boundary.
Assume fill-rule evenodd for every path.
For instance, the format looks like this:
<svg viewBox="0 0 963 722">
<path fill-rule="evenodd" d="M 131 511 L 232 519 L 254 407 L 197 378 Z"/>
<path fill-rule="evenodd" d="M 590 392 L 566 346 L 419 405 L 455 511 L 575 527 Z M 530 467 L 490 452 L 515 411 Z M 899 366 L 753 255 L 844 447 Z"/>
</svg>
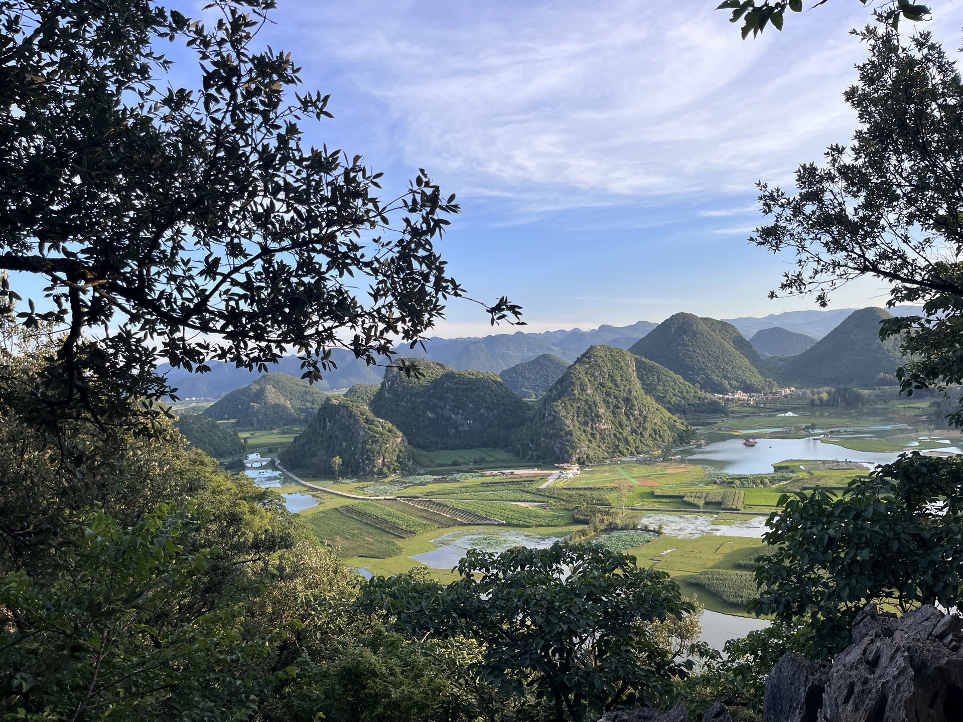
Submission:
<svg viewBox="0 0 963 722">
<path fill-rule="evenodd" d="M 340 456 L 341 474 L 372 477 L 407 468 L 410 453 L 394 425 L 363 404 L 331 397 L 280 458 L 295 472 L 327 477 L 335 472 L 332 459 Z"/>
</svg>

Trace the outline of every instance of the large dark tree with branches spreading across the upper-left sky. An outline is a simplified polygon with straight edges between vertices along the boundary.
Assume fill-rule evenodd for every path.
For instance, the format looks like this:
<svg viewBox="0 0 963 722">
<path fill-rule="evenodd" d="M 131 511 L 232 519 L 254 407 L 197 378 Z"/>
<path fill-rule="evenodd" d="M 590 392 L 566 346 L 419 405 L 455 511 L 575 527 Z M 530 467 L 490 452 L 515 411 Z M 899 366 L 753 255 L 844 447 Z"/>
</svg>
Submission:
<svg viewBox="0 0 963 722">
<path fill-rule="evenodd" d="M 264 370 L 294 348 L 315 379 L 332 348 L 376 363 L 463 296 L 434 247 L 454 194 L 421 170 L 380 198 L 360 156 L 305 144 L 328 98 L 255 45 L 273 7 L 214 0 L 209 27 L 151 0 L 0 2 L 0 270 L 48 284 L 19 322 L 65 331 L 39 378 L 46 422 L 164 395 L 162 358 Z M 168 41 L 197 87 L 169 84 Z M 20 296 L 5 279 L 0 310 Z"/>
</svg>

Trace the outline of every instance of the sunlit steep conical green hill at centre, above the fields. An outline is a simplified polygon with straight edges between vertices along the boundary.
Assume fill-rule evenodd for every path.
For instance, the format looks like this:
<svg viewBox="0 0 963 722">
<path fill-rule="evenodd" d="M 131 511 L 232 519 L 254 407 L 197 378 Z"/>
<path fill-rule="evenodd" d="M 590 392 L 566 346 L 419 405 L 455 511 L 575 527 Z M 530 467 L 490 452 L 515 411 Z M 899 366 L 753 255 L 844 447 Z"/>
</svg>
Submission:
<svg viewBox="0 0 963 722">
<path fill-rule="evenodd" d="M 631 353 L 593 346 L 549 389 L 515 448 L 531 459 L 594 463 L 661 450 L 688 435 L 642 389 Z"/>
</svg>

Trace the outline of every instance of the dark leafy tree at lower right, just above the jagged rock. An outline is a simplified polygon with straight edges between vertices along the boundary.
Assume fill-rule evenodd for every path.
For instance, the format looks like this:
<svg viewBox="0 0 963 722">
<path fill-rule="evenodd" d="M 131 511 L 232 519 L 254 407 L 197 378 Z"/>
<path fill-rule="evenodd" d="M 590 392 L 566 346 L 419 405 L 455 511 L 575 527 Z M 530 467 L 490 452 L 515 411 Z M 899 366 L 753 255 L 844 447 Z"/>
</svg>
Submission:
<svg viewBox="0 0 963 722">
<path fill-rule="evenodd" d="M 757 559 L 755 610 L 808 620 L 821 656 L 846 647 L 867 603 L 963 602 L 963 458 L 914 451 L 842 494 L 795 492 L 779 504 L 763 537 L 774 552 Z"/>
</svg>

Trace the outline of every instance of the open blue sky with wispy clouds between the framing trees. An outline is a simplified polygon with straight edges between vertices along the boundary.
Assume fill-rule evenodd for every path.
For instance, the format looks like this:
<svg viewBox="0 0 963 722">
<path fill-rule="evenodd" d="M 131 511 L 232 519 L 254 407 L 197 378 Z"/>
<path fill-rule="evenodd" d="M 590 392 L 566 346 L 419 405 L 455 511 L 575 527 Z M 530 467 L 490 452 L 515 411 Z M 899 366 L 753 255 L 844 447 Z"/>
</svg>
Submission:
<svg viewBox="0 0 963 722">
<path fill-rule="evenodd" d="M 786 185 L 850 137 L 842 92 L 865 48 L 848 30 L 871 18 L 857 0 L 745 41 L 715 0 L 279 5 L 258 39 L 331 94 L 335 118 L 310 139 L 396 187 L 421 167 L 457 193 L 442 245 L 455 277 L 521 303 L 526 330 L 814 307 L 767 299 L 790 259 L 746 244 L 753 184 Z M 963 4 L 932 7 L 954 50 Z M 834 305 L 885 297 L 867 282 Z M 438 335 L 491 332 L 473 304 L 448 316 Z"/>
</svg>

